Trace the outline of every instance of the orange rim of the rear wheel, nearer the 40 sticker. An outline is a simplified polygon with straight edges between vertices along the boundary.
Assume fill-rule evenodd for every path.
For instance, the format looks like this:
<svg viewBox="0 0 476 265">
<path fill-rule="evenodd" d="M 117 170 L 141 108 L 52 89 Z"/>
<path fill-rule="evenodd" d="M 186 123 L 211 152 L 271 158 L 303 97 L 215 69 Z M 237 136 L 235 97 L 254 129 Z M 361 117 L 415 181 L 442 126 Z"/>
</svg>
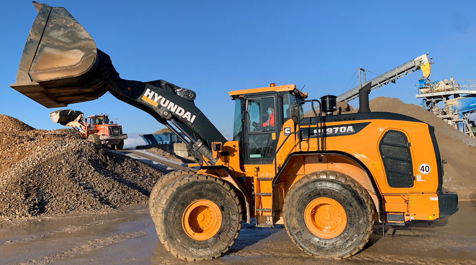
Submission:
<svg viewBox="0 0 476 265">
<path fill-rule="evenodd" d="M 320 238 L 334 238 L 347 225 L 346 211 L 337 201 L 321 197 L 310 202 L 304 212 L 307 228 Z"/>
</svg>

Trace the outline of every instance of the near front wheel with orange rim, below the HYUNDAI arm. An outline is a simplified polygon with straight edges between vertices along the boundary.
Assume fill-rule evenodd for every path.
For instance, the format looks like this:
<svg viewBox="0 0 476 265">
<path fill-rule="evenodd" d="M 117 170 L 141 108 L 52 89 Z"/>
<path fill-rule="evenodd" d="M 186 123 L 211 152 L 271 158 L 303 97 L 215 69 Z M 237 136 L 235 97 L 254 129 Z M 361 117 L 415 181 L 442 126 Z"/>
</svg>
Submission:
<svg viewBox="0 0 476 265">
<path fill-rule="evenodd" d="M 241 228 L 241 206 L 235 191 L 223 180 L 184 176 L 169 187 L 161 202 L 157 205 L 157 234 L 179 259 L 217 258 L 235 243 Z"/>
</svg>

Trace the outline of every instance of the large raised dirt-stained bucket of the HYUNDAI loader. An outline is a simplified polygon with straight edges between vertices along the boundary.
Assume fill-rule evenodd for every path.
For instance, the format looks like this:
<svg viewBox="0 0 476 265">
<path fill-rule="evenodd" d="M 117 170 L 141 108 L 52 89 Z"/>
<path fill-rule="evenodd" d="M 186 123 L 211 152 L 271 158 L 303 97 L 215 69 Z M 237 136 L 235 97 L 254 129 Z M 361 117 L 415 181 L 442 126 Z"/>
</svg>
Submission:
<svg viewBox="0 0 476 265">
<path fill-rule="evenodd" d="M 64 7 L 33 2 L 38 15 L 23 49 L 16 91 L 46 107 L 95 100 L 107 92 L 101 82 L 96 44 Z M 97 81 L 97 80 L 96 80 Z"/>
</svg>

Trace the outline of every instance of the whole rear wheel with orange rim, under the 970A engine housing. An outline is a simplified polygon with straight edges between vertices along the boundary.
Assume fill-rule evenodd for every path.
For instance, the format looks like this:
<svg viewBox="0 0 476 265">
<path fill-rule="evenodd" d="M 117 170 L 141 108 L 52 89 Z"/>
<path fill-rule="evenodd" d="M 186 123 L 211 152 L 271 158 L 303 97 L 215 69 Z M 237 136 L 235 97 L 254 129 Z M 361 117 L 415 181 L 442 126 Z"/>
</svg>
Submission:
<svg viewBox="0 0 476 265">
<path fill-rule="evenodd" d="M 299 179 L 288 192 L 283 212 L 293 242 L 307 254 L 323 258 L 357 254 L 373 229 L 374 207 L 367 191 L 336 171 Z"/>
</svg>

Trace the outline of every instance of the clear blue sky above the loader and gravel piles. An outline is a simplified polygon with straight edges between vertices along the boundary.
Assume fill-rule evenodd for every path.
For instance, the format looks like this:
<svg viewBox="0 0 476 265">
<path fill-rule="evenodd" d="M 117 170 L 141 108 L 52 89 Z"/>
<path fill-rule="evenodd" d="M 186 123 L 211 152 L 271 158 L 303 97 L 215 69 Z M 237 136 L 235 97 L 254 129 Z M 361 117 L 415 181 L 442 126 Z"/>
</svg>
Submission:
<svg viewBox="0 0 476 265">
<path fill-rule="evenodd" d="M 310 98 L 352 88 L 357 67 L 381 74 L 429 52 L 432 81 L 475 79 L 474 1 L 47 1 L 65 7 L 111 56 L 124 79 L 163 79 L 197 93 L 198 106 L 232 134 L 229 91 L 305 85 Z M 8 85 L 37 11 L 2 1 L 0 113 L 39 129 L 58 129 L 48 109 Z M 368 73 L 367 79 L 375 75 Z M 419 104 L 421 72 L 370 94 Z M 346 85 L 349 83 L 347 89 Z M 358 82 L 358 81 L 357 81 Z M 357 84 L 356 82 L 356 84 Z M 351 102 L 357 106 L 357 101 Z M 119 118 L 124 132 L 164 126 L 111 94 L 68 108 Z"/>
</svg>

